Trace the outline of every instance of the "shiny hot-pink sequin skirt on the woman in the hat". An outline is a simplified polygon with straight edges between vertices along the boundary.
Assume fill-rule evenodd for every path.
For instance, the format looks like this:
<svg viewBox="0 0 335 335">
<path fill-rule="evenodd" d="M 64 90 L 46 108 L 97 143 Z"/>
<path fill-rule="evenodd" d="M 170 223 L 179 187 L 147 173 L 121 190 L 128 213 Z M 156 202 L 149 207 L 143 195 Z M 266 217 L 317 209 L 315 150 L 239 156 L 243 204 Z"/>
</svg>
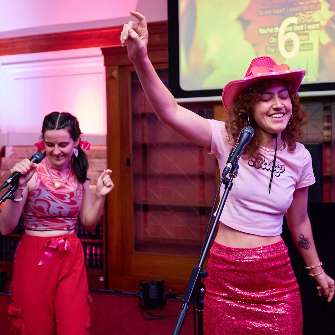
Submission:
<svg viewBox="0 0 335 335">
<path fill-rule="evenodd" d="M 204 334 L 303 334 L 299 286 L 283 240 L 250 249 L 214 241 L 207 270 Z"/>
</svg>

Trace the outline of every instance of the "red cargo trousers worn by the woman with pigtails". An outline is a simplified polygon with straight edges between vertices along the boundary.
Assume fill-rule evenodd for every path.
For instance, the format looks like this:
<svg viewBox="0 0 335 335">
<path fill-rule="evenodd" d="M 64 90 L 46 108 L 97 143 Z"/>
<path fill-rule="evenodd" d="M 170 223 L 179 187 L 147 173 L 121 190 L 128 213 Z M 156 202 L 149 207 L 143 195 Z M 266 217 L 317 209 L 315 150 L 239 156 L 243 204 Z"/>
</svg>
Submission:
<svg viewBox="0 0 335 335">
<path fill-rule="evenodd" d="M 69 250 L 55 248 L 47 264 L 38 265 L 51 238 L 24 234 L 14 255 L 8 308 L 12 334 L 86 335 L 91 297 L 84 253 L 75 233 L 59 236 Z"/>
</svg>

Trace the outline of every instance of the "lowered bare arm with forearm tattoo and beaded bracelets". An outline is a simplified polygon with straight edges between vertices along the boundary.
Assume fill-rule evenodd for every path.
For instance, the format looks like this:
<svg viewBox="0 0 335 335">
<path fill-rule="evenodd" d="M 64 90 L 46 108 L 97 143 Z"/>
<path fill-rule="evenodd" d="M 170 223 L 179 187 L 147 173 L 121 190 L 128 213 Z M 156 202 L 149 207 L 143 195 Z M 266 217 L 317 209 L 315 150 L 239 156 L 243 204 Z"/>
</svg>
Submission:
<svg viewBox="0 0 335 335">
<path fill-rule="evenodd" d="M 301 256 L 306 265 L 312 267 L 320 264 L 320 259 L 315 248 L 311 221 L 307 213 L 307 196 L 308 186 L 294 191 L 293 200 L 287 210 L 286 218 L 288 228 Z M 330 302 L 335 292 L 334 280 L 325 272 L 322 272 L 322 266 L 317 266 L 309 271 L 319 284 L 317 287 L 319 295 L 321 296 L 322 292 L 324 292 L 325 296 L 328 297 L 328 302 Z"/>
</svg>

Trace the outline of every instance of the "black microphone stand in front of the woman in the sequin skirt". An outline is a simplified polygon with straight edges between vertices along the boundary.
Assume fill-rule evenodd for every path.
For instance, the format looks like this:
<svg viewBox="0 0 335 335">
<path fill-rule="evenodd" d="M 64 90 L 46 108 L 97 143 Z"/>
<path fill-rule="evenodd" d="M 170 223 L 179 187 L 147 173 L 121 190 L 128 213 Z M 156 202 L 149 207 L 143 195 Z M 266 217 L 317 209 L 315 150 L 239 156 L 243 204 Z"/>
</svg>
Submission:
<svg viewBox="0 0 335 335">
<path fill-rule="evenodd" d="M 229 191 L 232 188 L 232 185 L 233 185 L 232 180 L 237 177 L 238 171 L 239 171 L 239 165 L 236 163 L 235 165 L 233 165 L 231 167 L 231 170 L 230 170 L 230 173 L 229 173 L 229 177 L 230 177 L 229 179 L 225 177 L 226 172 L 225 171 L 222 172 L 220 184 L 219 184 L 219 187 L 218 187 L 218 190 L 217 190 L 217 193 L 216 193 L 216 197 L 215 197 L 215 200 L 214 200 L 214 204 L 213 204 L 213 210 L 212 210 L 211 218 L 210 218 L 209 223 L 208 223 L 208 228 L 207 228 L 207 231 L 206 231 L 205 240 L 204 240 L 204 243 L 202 245 L 202 250 L 201 250 L 201 253 L 200 253 L 200 257 L 199 257 L 198 266 L 195 266 L 193 268 L 193 271 L 191 273 L 189 282 L 187 283 L 186 290 L 185 290 L 185 293 L 184 293 L 184 296 L 183 296 L 183 299 L 182 299 L 182 302 L 184 302 L 184 304 L 181 308 L 181 311 L 179 312 L 179 316 L 178 316 L 177 322 L 175 324 L 175 328 L 173 330 L 172 335 L 179 335 L 180 334 L 180 332 L 182 330 L 182 327 L 183 327 L 183 324 L 184 324 L 184 321 L 185 321 L 185 318 L 186 318 L 186 315 L 187 315 L 187 312 L 189 310 L 189 305 L 194 304 L 194 299 L 196 300 L 196 306 L 197 306 L 197 311 L 198 311 L 198 333 L 199 333 L 199 335 L 203 334 L 202 312 L 204 310 L 204 296 L 205 296 L 205 293 L 206 293 L 206 287 L 205 287 L 205 284 L 201 282 L 201 279 L 207 277 L 208 271 L 202 269 L 202 266 L 205 262 L 207 252 L 209 250 L 210 244 L 211 244 L 212 239 L 214 237 L 214 233 L 215 233 L 217 224 L 219 222 L 219 218 L 221 216 L 224 204 L 227 200 Z M 215 203 L 216 203 L 217 196 L 220 193 L 221 184 L 225 184 L 224 193 L 222 195 L 222 199 L 220 200 L 219 206 L 217 208 L 217 212 L 216 212 L 216 216 L 215 216 L 214 221 L 213 221 L 213 225 L 212 225 L 212 227 L 209 231 L 210 223 L 211 223 L 211 220 L 212 220 L 212 215 L 213 215 L 213 212 L 214 212 L 214 206 L 215 206 Z M 208 231 L 209 231 L 209 235 L 208 235 Z M 194 334 L 195 335 L 197 334 L 196 327 L 194 328 Z"/>
</svg>

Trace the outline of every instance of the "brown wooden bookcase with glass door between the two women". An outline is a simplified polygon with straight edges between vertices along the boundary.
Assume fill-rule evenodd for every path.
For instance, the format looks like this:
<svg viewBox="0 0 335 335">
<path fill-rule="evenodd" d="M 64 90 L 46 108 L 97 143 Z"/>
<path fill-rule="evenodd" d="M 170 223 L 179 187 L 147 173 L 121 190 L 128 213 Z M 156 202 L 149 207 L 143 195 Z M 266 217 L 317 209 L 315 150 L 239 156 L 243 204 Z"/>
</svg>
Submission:
<svg viewBox="0 0 335 335">
<path fill-rule="evenodd" d="M 148 26 L 148 29 L 149 58 L 158 76 L 168 85 L 167 25 L 154 22 Z M 217 184 L 215 157 L 209 163 L 210 171 L 206 171 L 206 167 L 202 164 L 206 165 L 207 158 L 210 161 L 213 157 L 209 157 L 204 148 L 177 138 L 178 134 L 171 128 L 168 130 L 169 127 L 157 120 L 136 78 L 135 69 L 128 59 L 126 48 L 114 47 L 102 50 L 105 57 L 107 85 L 107 147 L 109 152 L 113 152 L 113 155 L 108 156 L 108 166 L 113 170 L 113 176 L 118 181 L 115 192 L 107 199 L 108 287 L 114 290 L 138 291 L 140 281 L 164 280 L 166 290 L 181 292 L 185 290 L 193 266 L 197 265 L 197 251 L 201 249 L 201 246 L 199 248 L 200 237 L 204 235 L 203 230 L 206 230 L 207 217 L 200 212 L 205 211 L 206 214 L 210 204 L 206 193 L 212 196 L 212 192 L 209 189 L 206 190 L 204 186 L 205 179 L 210 178 L 210 183 L 214 187 Z M 224 116 L 222 103 L 187 104 L 185 107 L 200 115 L 204 114 L 204 117 L 209 117 L 206 110 L 211 111 L 209 118 L 221 120 Z M 171 134 L 172 136 L 177 135 L 172 140 L 176 144 L 175 147 L 172 145 L 168 148 L 169 140 L 163 138 L 169 131 L 174 133 Z M 190 152 L 187 147 L 190 147 Z M 169 149 L 167 151 L 170 152 L 166 152 L 165 157 L 172 157 L 175 153 L 186 156 L 193 152 L 194 166 L 185 166 L 185 169 L 180 172 L 164 170 L 163 165 L 168 160 L 158 156 L 163 154 L 165 149 Z M 161 162 L 156 172 L 153 171 L 153 161 L 150 161 L 155 155 Z M 189 163 L 191 163 L 190 160 Z M 191 170 L 194 171 L 191 172 Z M 156 180 L 153 181 L 153 179 Z M 190 188 L 189 196 L 184 197 L 185 201 L 180 201 L 178 196 L 174 199 L 173 197 L 154 199 L 147 193 L 152 191 L 148 183 L 155 187 L 155 184 L 159 185 L 164 180 L 171 184 L 172 189 L 176 189 L 190 179 L 190 184 L 193 183 L 198 195 L 192 194 Z M 184 192 L 187 187 L 186 185 L 181 191 Z M 201 192 L 204 194 L 200 195 Z M 184 195 L 187 195 L 187 192 Z M 157 207 L 153 208 L 153 206 Z M 145 236 L 147 229 L 154 227 L 145 226 L 146 218 L 143 219 L 143 217 L 147 216 L 150 219 L 149 216 L 155 214 L 155 209 L 157 209 L 157 215 L 170 215 L 171 213 L 166 211 L 167 207 L 174 207 L 175 212 L 184 210 L 186 213 L 184 217 L 187 216 L 189 209 L 193 210 L 193 215 L 199 223 L 199 230 L 202 230 L 197 231 L 195 239 L 194 234 L 192 237 L 195 229 L 189 236 L 184 231 L 182 234 L 172 236 L 171 239 L 159 234 Z M 166 228 L 169 233 L 172 229 L 175 231 L 179 229 L 174 227 L 174 222 L 177 223 L 181 216 L 175 221 L 172 216 L 173 214 L 166 222 L 160 220 L 158 223 L 160 228 Z M 190 222 L 189 218 L 187 220 Z M 185 224 L 185 227 L 187 225 Z M 190 252 L 190 249 L 194 250 Z"/>
</svg>

